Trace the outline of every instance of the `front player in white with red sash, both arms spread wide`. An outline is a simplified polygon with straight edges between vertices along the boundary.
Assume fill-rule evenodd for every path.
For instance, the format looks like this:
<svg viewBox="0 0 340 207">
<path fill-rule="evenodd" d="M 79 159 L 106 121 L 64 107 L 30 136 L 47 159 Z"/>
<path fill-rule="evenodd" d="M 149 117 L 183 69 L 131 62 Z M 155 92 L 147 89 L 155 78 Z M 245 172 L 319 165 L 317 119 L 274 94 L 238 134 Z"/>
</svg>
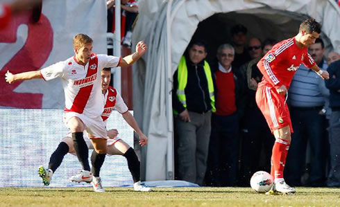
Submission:
<svg viewBox="0 0 340 207">
<path fill-rule="evenodd" d="M 99 177 L 101 165 L 103 165 L 107 151 L 107 132 L 105 123 L 101 118 L 105 101 L 101 92 L 101 69 L 116 66 L 130 66 L 146 52 L 146 44 L 138 42 L 136 52 L 124 58 L 110 55 L 96 55 L 92 53 L 91 37 L 78 34 L 74 36 L 74 56 L 61 62 L 48 66 L 41 71 L 29 71 L 24 73 L 6 73 L 6 82 L 12 83 L 18 80 L 31 80 L 43 78 L 52 80 L 61 78 L 65 93 L 64 121 L 71 130 L 74 141 L 74 150 L 78 160 L 83 166 L 73 181 L 92 181 Z M 83 138 L 86 130 L 94 145 L 92 153 L 92 173 L 88 161 L 88 147 Z"/>
</svg>

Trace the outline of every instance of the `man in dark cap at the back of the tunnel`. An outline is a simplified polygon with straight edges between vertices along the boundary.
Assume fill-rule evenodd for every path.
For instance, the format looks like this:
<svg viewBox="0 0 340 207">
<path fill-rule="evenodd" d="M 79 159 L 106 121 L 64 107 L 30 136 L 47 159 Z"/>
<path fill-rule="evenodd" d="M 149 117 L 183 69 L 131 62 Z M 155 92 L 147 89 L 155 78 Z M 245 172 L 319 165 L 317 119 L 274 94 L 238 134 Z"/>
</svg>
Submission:
<svg viewBox="0 0 340 207">
<path fill-rule="evenodd" d="M 233 26 L 230 30 L 232 35 L 232 44 L 235 49 L 235 58 L 232 66 L 239 69 L 239 67 L 250 60 L 249 53 L 246 48 L 247 42 L 247 28 L 241 24 Z"/>
</svg>

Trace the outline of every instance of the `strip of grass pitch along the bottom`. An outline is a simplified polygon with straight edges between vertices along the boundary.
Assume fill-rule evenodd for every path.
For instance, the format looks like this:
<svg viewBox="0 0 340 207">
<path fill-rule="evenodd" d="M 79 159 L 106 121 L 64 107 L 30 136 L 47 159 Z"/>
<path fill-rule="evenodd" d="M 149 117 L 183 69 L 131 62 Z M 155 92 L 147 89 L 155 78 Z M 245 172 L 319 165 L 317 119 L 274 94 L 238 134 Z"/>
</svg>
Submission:
<svg viewBox="0 0 340 207">
<path fill-rule="evenodd" d="M 250 188 L 0 188 L 0 206 L 340 206 L 340 188 L 264 195 Z"/>
</svg>

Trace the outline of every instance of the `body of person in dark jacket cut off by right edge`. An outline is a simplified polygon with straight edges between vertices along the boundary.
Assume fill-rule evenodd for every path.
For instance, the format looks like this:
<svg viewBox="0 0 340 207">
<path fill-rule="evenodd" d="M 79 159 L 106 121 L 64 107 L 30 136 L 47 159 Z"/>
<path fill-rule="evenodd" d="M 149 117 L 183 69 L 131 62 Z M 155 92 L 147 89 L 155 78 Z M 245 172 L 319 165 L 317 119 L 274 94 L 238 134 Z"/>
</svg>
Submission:
<svg viewBox="0 0 340 207">
<path fill-rule="evenodd" d="M 330 79 L 326 87 L 330 89 L 330 173 L 328 187 L 340 187 L 340 60 L 332 62 L 327 69 Z"/>
</svg>

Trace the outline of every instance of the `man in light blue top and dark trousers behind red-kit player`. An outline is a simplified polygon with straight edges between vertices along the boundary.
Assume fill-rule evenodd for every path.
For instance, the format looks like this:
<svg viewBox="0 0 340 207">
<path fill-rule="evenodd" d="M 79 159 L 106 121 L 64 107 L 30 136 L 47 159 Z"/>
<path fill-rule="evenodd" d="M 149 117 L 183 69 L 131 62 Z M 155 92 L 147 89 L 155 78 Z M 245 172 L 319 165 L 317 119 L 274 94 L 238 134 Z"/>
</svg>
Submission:
<svg viewBox="0 0 340 207">
<path fill-rule="evenodd" d="M 325 48 L 322 39 L 309 46 L 309 54 L 321 70 L 327 69 L 323 57 Z M 294 59 L 294 56 L 291 57 Z M 325 137 L 326 120 L 322 109 L 329 91 L 325 80 L 318 74 L 301 65 L 291 82 L 289 105 L 294 134 L 291 135 L 291 146 L 287 156 L 287 181 L 294 186 L 301 186 L 301 176 L 305 168 L 307 141 L 311 147 L 311 168 L 309 182 L 311 186 L 325 186 L 325 169 L 327 163 Z M 322 115 L 321 115 L 322 114 Z"/>
</svg>

